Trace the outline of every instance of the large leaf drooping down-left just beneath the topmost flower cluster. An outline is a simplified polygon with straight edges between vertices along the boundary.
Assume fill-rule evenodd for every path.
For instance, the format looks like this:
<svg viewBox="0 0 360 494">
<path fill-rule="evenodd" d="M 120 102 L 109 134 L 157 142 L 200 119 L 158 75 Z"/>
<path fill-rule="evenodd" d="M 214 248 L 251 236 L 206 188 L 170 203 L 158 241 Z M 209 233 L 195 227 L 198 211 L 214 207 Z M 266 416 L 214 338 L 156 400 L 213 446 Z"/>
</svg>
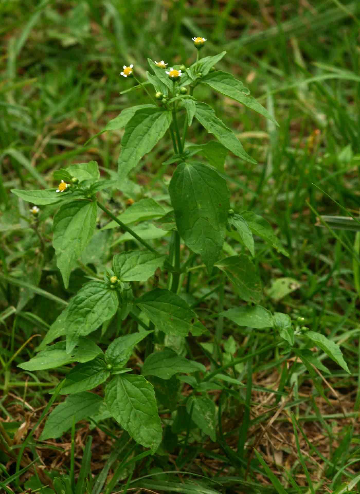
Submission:
<svg viewBox="0 0 360 494">
<path fill-rule="evenodd" d="M 127 176 L 141 158 L 160 141 L 171 124 L 171 112 L 162 108 L 137 110 L 126 124 L 118 160 L 119 180 Z"/>
</svg>

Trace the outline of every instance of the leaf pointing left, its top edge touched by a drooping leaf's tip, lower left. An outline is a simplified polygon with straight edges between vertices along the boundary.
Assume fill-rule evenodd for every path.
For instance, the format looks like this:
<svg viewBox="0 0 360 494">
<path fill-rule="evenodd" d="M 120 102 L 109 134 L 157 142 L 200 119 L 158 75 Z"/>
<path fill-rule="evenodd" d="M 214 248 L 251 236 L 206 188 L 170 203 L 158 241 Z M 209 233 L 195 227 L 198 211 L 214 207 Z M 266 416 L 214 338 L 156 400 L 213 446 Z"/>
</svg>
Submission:
<svg viewBox="0 0 360 494">
<path fill-rule="evenodd" d="M 44 371 L 45 369 L 54 369 L 73 362 L 88 362 L 101 353 L 101 349 L 87 338 L 81 338 L 79 346 L 71 353 L 66 353 L 65 342 L 60 341 L 42 350 L 28 362 L 19 364 L 18 367 L 25 371 Z"/>
</svg>

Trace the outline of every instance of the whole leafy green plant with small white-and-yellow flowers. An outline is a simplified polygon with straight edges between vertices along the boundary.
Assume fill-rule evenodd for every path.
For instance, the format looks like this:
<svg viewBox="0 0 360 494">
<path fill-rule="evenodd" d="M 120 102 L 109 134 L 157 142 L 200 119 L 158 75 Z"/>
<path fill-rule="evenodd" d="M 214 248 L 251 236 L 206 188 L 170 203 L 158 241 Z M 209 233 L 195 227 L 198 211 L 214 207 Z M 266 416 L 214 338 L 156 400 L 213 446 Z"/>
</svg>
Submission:
<svg viewBox="0 0 360 494">
<path fill-rule="evenodd" d="M 193 41 L 200 48 L 206 40 L 198 37 Z M 189 67 L 170 64 L 169 70 L 163 60 L 149 59 L 153 73 L 147 73 L 146 82 L 136 79 L 133 64 L 123 66 L 121 75 L 131 76 L 137 82 L 136 87 L 144 88 L 151 100 L 149 104 L 124 109 L 103 129 L 105 132 L 124 128 L 118 172 L 113 172 L 111 179 L 100 179 L 97 163 L 89 162 L 56 171 L 54 179 L 60 181 L 57 189 L 12 191 L 37 206 L 59 206 L 53 218 L 53 248 L 64 287 L 71 285 L 79 259 L 89 280 L 69 303 L 65 302 L 66 307 L 43 338 L 39 354 L 19 365 L 26 371 L 37 371 L 76 364 L 55 389 L 55 394 L 69 396 L 50 413 L 40 439 L 60 437 L 72 426 L 74 415 L 76 420 L 114 417 L 137 443 L 155 452 L 162 441 L 159 409 L 167 410 L 167 421 L 174 424 L 176 418 L 171 412 L 178 407 L 177 391 L 185 382 L 191 391 L 181 396 L 183 421 L 195 423 L 215 441 L 217 413 L 207 390 L 215 387 L 231 392 L 227 386 L 237 384 L 237 363 L 252 357 L 234 359 L 235 352 L 230 349 L 228 356 L 222 352 L 224 318 L 236 327 L 273 329 L 277 340 L 261 352 L 276 346 L 288 350 L 294 346 L 295 337 L 302 338 L 301 341 L 320 345 L 347 369 L 340 350 L 334 351 L 334 343 L 330 348 L 324 336 L 296 325 L 294 328 L 287 314 L 273 314 L 260 305 L 263 293 L 252 260 L 253 234 L 269 247 L 288 254 L 264 218 L 252 211 L 230 207 L 229 177 L 224 168 L 227 153 L 230 151 L 251 164 L 256 162 L 233 130 L 198 94 L 195 96 L 195 91 L 210 88 L 268 119 L 274 121 L 274 118 L 232 74 L 214 68 L 225 51 L 203 58 L 199 53 L 198 50 L 196 61 Z M 148 90 L 149 85 L 154 93 Z M 215 140 L 188 142 L 189 126 L 198 124 Z M 111 212 L 100 201 L 99 193 L 120 189 L 129 196 L 126 192 L 131 188 L 129 173 L 167 132 L 173 146 L 173 155 L 162 163 L 173 169 L 168 195 L 158 201 L 149 197 L 129 200 L 130 206 L 120 215 Z M 33 215 L 39 212 L 37 206 L 31 209 Z M 95 233 L 99 209 L 112 221 Z M 41 217 L 34 222 L 38 225 L 40 220 Z M 104 238 L 100 233 L 104 235 L 119 228 L 124 235 L 112 243 L 105 267 L 97 269 L 96 263 L 93 265 L 93 261 L 86 259 L 100 255 Z M 106 247 L 110 237 L 108 233 L 105 235 Z M 236 241 L 234 247 L 225 242 L 227 237 Z M 158 245 L 154 242 L 156 238 L 169 242 Z M 126 248 L 119 248 L 124 243 Z M 130 245 L 135 247 L 129 249 Z M 95 252 L 93 257 L 88 254 L 91 249 Z M 202 276 L 211 280 L 213 287 L 205 292 L 192 291 L 194 276 L 203 268 Z M 149 279 L 154 279 L 155 288 L 149 287 Z M 226 286 L 232 287 L 236 299 L 236 304 L 228 310 L 224 310 Z M 214 293 L 218 295 L 219 307 L 212 335 L 213 326 L 205 327 L 197 307 Z M 124 325 L 127 325 L 126 334 L 119 335 Z M 99 346 L 104 334 L 116 335 L 105 351 Z M 212 353 L 208 354 L 211 371 L 204 365 L 206 361 L 200 363 L 195 357 L 185 357 L 189 334 L 195 338 L 207 334 L 212 339 Z M 126 367 L 128 361 L 135 347 L 145 339 L 141 374 L 130 373 L 132 368 Z M 307 350 L 296 351 L 306 365 L 310 361 L 317 365 Z M 104 388 L 103 395 L 89 392 L 99 385 Z M 183 431 L 180 423 L 176 427 Z"/>
</svg>

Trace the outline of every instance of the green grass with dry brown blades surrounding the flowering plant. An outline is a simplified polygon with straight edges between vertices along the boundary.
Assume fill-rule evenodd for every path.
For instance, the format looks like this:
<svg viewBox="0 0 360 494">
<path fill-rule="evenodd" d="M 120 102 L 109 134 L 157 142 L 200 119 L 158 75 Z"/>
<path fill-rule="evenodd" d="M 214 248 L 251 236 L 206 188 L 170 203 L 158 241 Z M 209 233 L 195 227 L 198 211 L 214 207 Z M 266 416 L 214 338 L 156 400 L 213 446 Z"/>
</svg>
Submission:
<svg viewBox="0 0 360 494">
<path fill-rule="evenodd" d="M 332 232 L 315 223 L 320 214 L 344 215 L 342 208 L 357 216 L 360 205 L 360 3 L 27 0 L 2 2 L 0 17 L 0 396 L 11 383 L 0 398 L 3 492 L 40 488 L 45 481 L 35 466 L 41 464 L 50 476 L 59 471 L 68 475 L 69 486 L 58 486 L 66 494 L 68 489 L 80 494 L 84 485 L 89 492 L 107 494 L 126 489 L 340 494 L 348 483 L 349 491 L 359 492 L 355 233 Z M 20 373 L 16 366 L 34 355 L 41 341 L 34 335 L 43 337 L 62 309 L 59 299 L 68 300 L 88 273 L 80 266 L 65 290 L 51 259 L 45 259 L 41 272 L 40 244 L 27 221 L 28 207 L 10 189 L 52 187 L 53 171 L 89 160 L 116 170 L 120 132 L 85 143 L 123 108 L 148 102 L 142 90 L 120 94 L 134 85 L 121 78 L 122 65 L 133 63 L 143 79 L 148 57 L 189 63 L 195 56 L 193 36 L 208 39 L 205 55 L 227 50 L 218 68 L 243 81 L 280 123 L 275 127 L 240 104 L 214 100 L 210 90 L 203 90 L 204 101 L 236 129 L 258 163 L 227 158 L 232 204 L 266 217 L 290 253 L 286 258 L 257 241 L 255 263 L 264 293 L 279 277 L 301 284 L 280 301 L 266 295 L 264 305 L 292 318 L 304 317 L 302 324 L 340 343 L 352 373 L 346 374 L 321 352 L 320 360 L 331 371 L 327 382 L 315 371 L 309 375 L 299 363 L 286 363 L 277 350 L 257 355 L 265 340 L 271 344 L 271 334 L 250 329 L 240 333 L 226 320 L 222 343 L 230 336 L 238 342 L 236 358 L 244 358 L 238 367 L 243 387 L 217 399 L 222 420 L 216 443 L 204 442 L 180 423 L 180 447 L 168 427 L 165 440 L 172 453 L 152 457 L 129 444 L 125 435 L 119 439 L 119 428 L 109 419 L 90 426 L 81 422 L 62 439 L 43 443 L 38 430 L 28 434 L 48 411 L 47 392 L 67 369 Z M 197 124 L 188 137 L 207 140 Z M 131 176 L 141 188 L 127 196 L 115 194 L 112 210 L 125 207 L 130 196 L 136 200 L 154 190 L 164 194 L 163 175 L 170 177 L 174 168 L 162 162 L 171 154 L 171 142 L 160 143 Z M 48 206 L 46 215 L 53 210 Z M 105 223 L 105 218 L 100 221 Z M 45 231 L 49 239 L 51 226 Z M 204 275 L 194 279 L 199 297 L 211 280 Z M 26 284 L 39 288 L 32 291 Z M 231 301 L 234 295 L 225 290 L 225 309 Z M 216 334 L 216 293 L 200 311 L 203 323 Z M 212 337 L 201 342 L 209 344 Z M 194 343 L 190 350 L 197 358 L 209 358 L 211 365 L 209 347 Z M 273 391 L 277 394 L 272 396 Z M 170 393 L 171 386 L 165 392 Z M 88 434 L 91 452 L 90 446 L 85 448 Z M 3 452 L 4 441 L 12 444 L 10 456 Z M 20 452 L 23 462 L 16 468 Z"/>
</svg>

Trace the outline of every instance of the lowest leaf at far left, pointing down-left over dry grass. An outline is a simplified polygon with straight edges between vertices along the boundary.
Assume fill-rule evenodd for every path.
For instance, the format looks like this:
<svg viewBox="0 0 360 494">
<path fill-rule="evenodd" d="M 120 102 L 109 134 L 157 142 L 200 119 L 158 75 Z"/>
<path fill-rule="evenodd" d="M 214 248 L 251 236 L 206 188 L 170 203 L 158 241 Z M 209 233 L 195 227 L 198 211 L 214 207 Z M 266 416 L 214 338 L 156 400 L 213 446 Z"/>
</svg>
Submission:
<svg viewBox="0 0 360 494">
<path fill-rule="evenodd" d="M 41 441 L 57 439 L 69 430 L 74 422 L 95 415 L 99 411 L 103 400 L 100 396 L 88 391 L 76 395 L 70 395 L 63 403 L 60 403 L 47 417 L 45 427 L 40 436 Z M 74 417 L 75 416 L 75 417 Z"/>
</svg>

